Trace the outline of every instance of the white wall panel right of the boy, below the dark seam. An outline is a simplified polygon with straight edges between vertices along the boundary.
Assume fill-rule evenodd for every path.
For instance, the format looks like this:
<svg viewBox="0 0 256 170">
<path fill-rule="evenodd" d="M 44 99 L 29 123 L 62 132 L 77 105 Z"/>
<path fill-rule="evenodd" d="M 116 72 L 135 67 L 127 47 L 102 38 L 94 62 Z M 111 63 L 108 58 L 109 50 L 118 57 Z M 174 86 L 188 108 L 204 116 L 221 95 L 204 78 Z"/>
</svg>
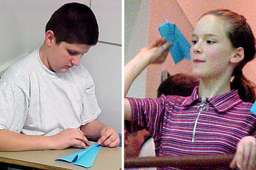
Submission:
<svg viewBox="0 0 256 170">
<path fill-rule="evenodd" d="M 98 43 L 81 63 L 92 75 L 98 104 L 102 110 L 100 121 L 122 131 L 122 48 Z"/>
</svg>

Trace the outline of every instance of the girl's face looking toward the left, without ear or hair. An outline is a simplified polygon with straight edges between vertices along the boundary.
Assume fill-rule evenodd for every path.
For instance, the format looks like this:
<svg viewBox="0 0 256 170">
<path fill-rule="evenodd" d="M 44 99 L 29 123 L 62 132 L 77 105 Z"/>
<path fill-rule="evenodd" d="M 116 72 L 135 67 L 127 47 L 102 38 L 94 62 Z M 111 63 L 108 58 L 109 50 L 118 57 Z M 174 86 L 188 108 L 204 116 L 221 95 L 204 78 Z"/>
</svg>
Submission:
<svg viewBox="0 0 256 170">
<path fill-rule="evenodd" d="M 227 36 L 230 24 L 218 16 L 199 20 L 192 35 L 190 50 L 193 73 L 200 78 L 231 76 L 229 61 L 236 54 Z"/>
</svg>

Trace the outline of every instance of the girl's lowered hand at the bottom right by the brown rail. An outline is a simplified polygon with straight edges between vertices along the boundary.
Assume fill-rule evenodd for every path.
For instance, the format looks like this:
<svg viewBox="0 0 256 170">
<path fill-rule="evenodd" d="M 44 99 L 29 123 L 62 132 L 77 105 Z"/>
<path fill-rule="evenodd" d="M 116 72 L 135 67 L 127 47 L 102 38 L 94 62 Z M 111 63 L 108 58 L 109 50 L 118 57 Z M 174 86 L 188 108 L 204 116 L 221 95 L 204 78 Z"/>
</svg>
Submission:
<svg viewBox="0 0 256 170">
<path fill-rule="evenodd" d="M 241 170 L 256 169 L 256 138 L 248 136 L 238 142 L 237 152 L 230 167 L 238 167 Z"/>
</svg>

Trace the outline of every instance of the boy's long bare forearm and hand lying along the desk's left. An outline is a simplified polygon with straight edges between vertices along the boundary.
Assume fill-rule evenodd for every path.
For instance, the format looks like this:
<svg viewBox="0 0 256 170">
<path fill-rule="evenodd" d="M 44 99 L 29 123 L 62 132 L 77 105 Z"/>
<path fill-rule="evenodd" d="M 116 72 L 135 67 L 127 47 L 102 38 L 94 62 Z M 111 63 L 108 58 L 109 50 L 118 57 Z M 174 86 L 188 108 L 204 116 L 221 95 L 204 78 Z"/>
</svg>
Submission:
<svg viewBox="0 0 256 170">
<path fill-rule="evenodd" d="M 73 145 L 85 148 L 90 143 L 79 129 L 66 129 L 52 136 L 0 130 L 0 151 L 62 150 Z"/>
</svg>

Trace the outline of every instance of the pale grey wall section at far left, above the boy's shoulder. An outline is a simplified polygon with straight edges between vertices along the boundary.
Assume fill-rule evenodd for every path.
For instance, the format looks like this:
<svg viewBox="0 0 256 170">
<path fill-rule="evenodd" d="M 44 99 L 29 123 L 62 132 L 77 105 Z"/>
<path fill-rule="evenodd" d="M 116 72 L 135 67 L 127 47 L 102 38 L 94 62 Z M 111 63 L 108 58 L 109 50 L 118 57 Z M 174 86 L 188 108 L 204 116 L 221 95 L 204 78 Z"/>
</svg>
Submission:
<svg viewBox="0 0 256 170">
<path fill-rule="evenodd" d="M 26 4 L 0 1 L 0 76 L 18 57 L 26 53 Z"/>
</svg>

